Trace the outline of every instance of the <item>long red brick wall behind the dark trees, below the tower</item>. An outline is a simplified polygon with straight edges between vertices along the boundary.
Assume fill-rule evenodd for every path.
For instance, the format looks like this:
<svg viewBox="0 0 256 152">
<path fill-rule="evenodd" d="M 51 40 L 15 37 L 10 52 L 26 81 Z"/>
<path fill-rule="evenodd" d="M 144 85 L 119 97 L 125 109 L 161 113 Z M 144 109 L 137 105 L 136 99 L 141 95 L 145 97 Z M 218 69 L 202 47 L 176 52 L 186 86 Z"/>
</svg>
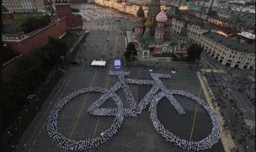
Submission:
<svg viewBox="0 0 256 152">
<path fill-rule="evenodd" d="M 43 29 L 27 34 L 27 38 L 20 41 L 5 41 L 15 53 L 31 55 L 33 51 L 48 43 L 49 37 L 59 38 L 66 33 L 67 20 L 61 18 L 56 23 L 50 24 Z"/>
</svg>

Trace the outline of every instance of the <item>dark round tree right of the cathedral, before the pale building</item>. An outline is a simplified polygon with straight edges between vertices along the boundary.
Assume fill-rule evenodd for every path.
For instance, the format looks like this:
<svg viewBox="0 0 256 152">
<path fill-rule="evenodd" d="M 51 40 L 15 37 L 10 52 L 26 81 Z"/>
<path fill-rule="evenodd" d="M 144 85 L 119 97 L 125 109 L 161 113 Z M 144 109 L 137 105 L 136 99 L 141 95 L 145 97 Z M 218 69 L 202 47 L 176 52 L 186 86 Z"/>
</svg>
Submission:
<svg viewBox="0 0 256 152">
<path fill-rule="evenodd" d="M 197 44 L 190 45 L 187 51 L 187 54 L 188 54 L 187 60 L 195 62 L 195 59 L 200 59 L 200 54 L 203 50 L 204 49 L 200 47 L 200 45 L 197 45 Z"/>
</svg>

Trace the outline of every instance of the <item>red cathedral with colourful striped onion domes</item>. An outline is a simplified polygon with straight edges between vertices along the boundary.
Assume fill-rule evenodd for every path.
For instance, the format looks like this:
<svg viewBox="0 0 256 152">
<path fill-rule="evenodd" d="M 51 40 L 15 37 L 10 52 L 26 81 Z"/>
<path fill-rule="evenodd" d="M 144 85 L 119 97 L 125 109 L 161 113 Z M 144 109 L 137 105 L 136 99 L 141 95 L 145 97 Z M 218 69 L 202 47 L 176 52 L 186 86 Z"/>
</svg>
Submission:
<svg viewBox="0 0 256 152">
<path fill-rule="evenodd" d="M 184 45 L 182 41 L 179 44 L 173 44 L 171 41 L 172 18 L 179 13 L 179 8 L 170 7 L 166 11 L 161 10 L 159 0 L 152 0 L 148 7 L 147 18 L 142 7 L 138 9 L 135 31 L 132 36 L 142 57 L 148 57 L 151 51 L 154 54 L 173 52 L 175 45 Z M 179 36 L 186 37 L 186 32 L 182 33 L 184 35 Z"/>
</svg>

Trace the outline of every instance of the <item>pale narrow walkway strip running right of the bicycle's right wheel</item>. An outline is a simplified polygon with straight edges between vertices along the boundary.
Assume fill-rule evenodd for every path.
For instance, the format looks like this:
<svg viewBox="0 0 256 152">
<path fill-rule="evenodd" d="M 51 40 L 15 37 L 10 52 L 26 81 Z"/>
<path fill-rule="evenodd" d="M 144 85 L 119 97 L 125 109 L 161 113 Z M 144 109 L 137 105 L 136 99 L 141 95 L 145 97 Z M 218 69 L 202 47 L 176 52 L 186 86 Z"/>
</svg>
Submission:
<svg viewBox="0 0 256 152">
<path fill-rule="evenodd" d="M 214 97 L 213 93 L 211 92 L 210 86 L 208 86 L 208 83 L 207 83 L 207 80 L 206 80 L 205 76 L 202 76 L 200 71 L 197 72 L 197 76 L 200 80 L 200 84 L 201 84 L 202 89 L 205 93 L 206 101 L 208 102 L 209 107 L 211 107 L 213 112 L 216 113 L 216 117 L 218 118 L 218 121 L 221 125 L 221 128 L 222 128 L 222 130 L 221 130 L 221 142 L 223 144 L 225 152 L 231 152 L 232 151 L 231 149 L 235 148 L 236 145 L 234 144 L 234 141 L 232 139 L 231 134 L 229 133 L 229 130 L 224 129 L 225 120 L 221 116 L 221 109 L 220 109 L 220 107 L 217 107 L 216 105 L 214 105 L 215 104 L 214 102 L 212 102 L 212 99 L 215 99 L 215 97 Z"/>
</svg>

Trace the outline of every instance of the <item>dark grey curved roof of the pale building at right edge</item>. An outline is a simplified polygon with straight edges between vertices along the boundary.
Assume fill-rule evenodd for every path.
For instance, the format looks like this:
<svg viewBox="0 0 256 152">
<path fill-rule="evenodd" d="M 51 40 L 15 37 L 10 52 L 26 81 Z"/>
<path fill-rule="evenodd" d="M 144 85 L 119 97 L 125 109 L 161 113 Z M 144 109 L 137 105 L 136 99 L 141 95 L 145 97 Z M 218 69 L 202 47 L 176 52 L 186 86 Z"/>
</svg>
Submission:
<svg viewBox="0 0 256 152">
<path fill-rule="evenodd" d="M 247 43 L 238 43 L 235 40 L 227 39 L 225 37 L 222 37 L 220 34 L 216 34 L 212 32 L 207 32 L 204 35 L 232 50 L 237 50 L 239 52 L 246 52 L 246 53 L 255 53 L 255 44 L 249 45 Z"/>
</svg>

